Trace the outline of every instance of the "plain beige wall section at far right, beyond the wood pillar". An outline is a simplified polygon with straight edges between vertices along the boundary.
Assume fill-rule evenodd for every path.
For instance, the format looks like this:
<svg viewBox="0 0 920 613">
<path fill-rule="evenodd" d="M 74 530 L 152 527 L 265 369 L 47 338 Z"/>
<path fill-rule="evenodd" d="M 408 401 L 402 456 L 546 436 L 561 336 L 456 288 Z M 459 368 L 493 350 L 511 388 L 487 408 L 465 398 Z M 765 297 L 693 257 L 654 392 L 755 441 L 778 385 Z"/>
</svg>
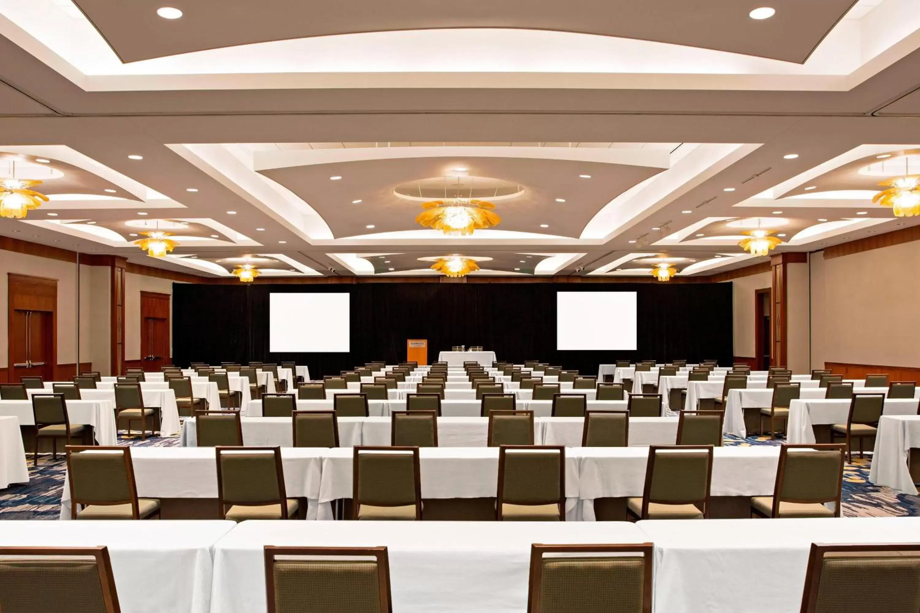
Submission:
<svg viewBox="0 0 920 613">
<path fill-rule="evenodd" d="M 811 260 L 811 362 L 920 367 L 920 241 Z"/>
</svg>

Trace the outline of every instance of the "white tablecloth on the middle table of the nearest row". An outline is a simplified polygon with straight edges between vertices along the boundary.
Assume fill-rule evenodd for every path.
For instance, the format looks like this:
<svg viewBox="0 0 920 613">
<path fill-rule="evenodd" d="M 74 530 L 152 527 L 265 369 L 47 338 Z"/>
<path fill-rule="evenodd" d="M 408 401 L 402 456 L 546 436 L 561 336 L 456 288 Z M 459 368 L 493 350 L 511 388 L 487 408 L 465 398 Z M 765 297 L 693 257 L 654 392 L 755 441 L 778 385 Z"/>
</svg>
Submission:
<svg viewBox="0 0 920 613">
<path fill-rule="evenodd" d="M 264 613 L 265 545 L 385 546 L 394 611 L 510 613 L 527 607 L 532 543 L 645 540 L 627 522 L 247 521 L 214 550 L 212 610 Z"/>
</svg>

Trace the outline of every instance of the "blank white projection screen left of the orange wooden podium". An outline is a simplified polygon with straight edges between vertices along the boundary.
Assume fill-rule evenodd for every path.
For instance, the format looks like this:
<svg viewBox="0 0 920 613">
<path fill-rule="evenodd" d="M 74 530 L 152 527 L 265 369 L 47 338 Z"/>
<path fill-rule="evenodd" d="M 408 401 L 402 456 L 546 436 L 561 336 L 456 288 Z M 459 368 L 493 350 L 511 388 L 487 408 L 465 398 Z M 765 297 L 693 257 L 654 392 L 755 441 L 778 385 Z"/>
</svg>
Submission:
<svg viewBox="0 0 920 613">
<path fill-rule="evenodd" d="M 349 294 L 269 294 L 271 353 L 351 350 Z"/>
</svg>

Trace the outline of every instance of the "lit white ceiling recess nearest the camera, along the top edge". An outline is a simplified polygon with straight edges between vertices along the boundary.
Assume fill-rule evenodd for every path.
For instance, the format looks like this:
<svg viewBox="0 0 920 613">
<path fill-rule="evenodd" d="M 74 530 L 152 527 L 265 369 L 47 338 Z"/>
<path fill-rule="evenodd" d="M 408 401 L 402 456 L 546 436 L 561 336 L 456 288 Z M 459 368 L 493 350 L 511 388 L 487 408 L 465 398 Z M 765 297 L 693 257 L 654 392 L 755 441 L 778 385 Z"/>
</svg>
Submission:
<svg viewBox="0 0 920 613">
<path fill-rule="evenodd" d="M 456 87 L 456 73 L 465 74 L 465 87 L 845 91 L 920 47 L 916 0 L 859 9 L 804 64 L 647 40 L 489 28 L 279 40 L 122 63 L 69 0 L 0 0 L 0 34 L 87 91 Z"/>
</svg>

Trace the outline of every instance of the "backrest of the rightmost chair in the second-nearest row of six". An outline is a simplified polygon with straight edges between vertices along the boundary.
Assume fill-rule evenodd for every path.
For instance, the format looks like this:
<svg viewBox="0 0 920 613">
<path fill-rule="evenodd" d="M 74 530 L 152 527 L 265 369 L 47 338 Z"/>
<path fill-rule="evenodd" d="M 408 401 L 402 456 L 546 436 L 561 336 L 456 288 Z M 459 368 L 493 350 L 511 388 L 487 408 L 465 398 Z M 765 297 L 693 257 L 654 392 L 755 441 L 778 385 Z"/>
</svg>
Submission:
<svg viewBox="0 0 920 613">
<path fill-rule="evenodd" d="M 773 517 L 779 517 L 783 502 L 834 503 L 834 514 L 840 517 L 845 448 L 845 443 L 787 444 L 779 448 Z"/>
</svg>

